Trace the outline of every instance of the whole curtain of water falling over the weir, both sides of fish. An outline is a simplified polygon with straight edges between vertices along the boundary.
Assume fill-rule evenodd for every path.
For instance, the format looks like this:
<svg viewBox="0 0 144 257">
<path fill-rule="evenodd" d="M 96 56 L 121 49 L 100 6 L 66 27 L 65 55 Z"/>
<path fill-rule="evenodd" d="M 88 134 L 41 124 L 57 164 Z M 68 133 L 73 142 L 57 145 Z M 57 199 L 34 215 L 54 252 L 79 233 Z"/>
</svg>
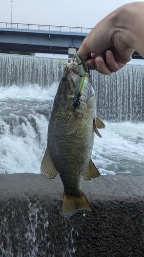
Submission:
<svg viewBox="0 0 144 257">
<path fill-rule="evenodd" d="M 18 87 L 37 84 L 42 88 L 58 83 L 63 64 L 48 58 L 0 54 L 0 85 Z M 144 66 L 126 65 L 104 76 L 91 71 L 96 92 L 97 115 L 116 122 L 144 119 Z"/>
</svg>

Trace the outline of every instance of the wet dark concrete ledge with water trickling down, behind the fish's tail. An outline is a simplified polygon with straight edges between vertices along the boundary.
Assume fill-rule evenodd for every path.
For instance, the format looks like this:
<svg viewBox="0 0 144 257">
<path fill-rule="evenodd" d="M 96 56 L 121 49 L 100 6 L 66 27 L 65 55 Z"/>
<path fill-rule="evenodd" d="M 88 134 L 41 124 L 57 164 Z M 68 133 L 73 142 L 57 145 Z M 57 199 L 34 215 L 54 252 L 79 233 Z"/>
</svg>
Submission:
<svg viewBox="0 0 144 257">
<path fill-rule="evenodd" d="M 144 256 L 144 177 L 81 183 L 92 212 L 64 218 L 59 177 L 0 174 L 0 256 Z"/>
</svg>

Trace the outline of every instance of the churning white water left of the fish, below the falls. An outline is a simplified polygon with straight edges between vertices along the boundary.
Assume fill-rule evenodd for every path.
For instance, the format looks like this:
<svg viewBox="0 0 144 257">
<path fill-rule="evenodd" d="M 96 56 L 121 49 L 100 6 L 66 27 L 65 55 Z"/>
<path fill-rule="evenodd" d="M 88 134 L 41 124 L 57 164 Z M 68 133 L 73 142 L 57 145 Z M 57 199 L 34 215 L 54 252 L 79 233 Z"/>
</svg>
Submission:
<svg viewBox="0 0 144 257">
<path fill-rule="evenodd" d="M 40 172 L 56 90 L 0 87 L 0 173 Z"/>
</svg>

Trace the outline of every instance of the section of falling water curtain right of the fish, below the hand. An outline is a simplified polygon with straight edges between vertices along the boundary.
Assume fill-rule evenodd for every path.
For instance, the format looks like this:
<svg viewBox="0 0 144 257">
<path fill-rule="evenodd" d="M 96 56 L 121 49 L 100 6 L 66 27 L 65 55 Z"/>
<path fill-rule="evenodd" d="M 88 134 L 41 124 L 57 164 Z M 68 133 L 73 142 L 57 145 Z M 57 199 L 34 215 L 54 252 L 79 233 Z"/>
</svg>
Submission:
<svg viewBox="0 0 144 257">
<path fill-rule="evenodd" d="M 104 76 L 92 71 L 97 114 L 116 122 L 144 120 L 144 66 L 126 65 Z"/>
</svg>

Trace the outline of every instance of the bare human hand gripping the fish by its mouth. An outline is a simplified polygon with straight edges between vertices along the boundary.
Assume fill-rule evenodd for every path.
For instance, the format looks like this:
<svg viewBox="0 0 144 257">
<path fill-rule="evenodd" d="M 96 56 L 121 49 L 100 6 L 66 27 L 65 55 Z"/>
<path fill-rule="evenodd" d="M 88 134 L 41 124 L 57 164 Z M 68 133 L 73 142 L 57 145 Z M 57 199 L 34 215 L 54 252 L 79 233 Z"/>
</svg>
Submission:
<svg viewBox="0 0 144 257">
<path fill-rule="evenodd" d="M 128 23 L 130 21 L 125 18 L 125 12 L 129 8 L 127 6 L 118 8 L 100 21 L 78 49 L 77 53 L 81 60 L 92 56 L 87 62 L 90 69 L 110 75 L 131 60 L 134 40 L 133 32 L 127 26 L 127 20 Z"/>
</svg>

